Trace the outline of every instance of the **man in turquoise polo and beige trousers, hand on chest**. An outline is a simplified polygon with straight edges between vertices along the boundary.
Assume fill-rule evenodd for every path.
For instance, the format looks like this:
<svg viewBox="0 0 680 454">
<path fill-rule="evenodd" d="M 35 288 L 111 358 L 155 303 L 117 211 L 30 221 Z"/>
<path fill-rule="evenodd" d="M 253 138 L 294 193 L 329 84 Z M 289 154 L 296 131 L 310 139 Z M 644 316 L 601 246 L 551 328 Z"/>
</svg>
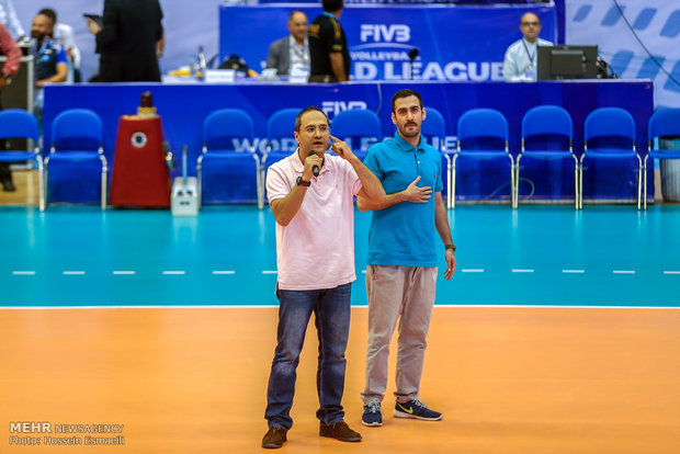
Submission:
<svg viewBox="0 0 680 454">
<path fill-rule="evenodd" d="M 437 237 L 445 247 L 450 280 L 456 266 L 455 246 L 442 200 L 442 159 L 420 134 L 426 110 L 413 90 L 392 99 L 394 138 L 369 149 L 364 163 L 387 193 L 381 204 L 359 197 L 359 209 L 373 211 L 369 234 L 369 347 L 362 423 L 383 424 L 381 402 L 387 387 L 389 340 L 399 316 L 397 390 L 394 416 L 439 421 L 442 415 L 420 401 L 420 376 L 437 284 Z M 432 197 L 434 188 L 434 197 Z"/>
</svg>

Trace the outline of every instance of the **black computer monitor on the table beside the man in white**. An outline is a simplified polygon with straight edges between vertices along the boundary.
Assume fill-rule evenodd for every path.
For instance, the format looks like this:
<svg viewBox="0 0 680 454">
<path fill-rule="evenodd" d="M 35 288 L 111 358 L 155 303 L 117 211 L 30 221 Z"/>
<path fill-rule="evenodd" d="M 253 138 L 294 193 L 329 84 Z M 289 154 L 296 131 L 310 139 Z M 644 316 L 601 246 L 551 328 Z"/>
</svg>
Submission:
<svg viewBox="0 0 680 454">
<path fill-rule="evenodd" d="M 596 79 L 598 46 L 539 46 L 536 79 Z"/>
</svg>

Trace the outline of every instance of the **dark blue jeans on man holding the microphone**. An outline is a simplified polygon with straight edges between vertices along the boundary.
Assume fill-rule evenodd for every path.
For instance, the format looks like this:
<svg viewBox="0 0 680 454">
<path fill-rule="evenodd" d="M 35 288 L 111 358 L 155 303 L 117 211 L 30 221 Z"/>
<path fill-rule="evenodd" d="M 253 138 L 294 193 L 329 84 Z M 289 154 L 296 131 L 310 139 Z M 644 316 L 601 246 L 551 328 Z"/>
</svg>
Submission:
<svg viewBox="0 0 680 454">
<path fill-rule="evenodd" d="M 319 362 L 316 387 L 319 396 L 317 418 L 324 424 L 335 424 L 344 418 L 344 350 L 350 333 L 351 284 L 316 291 L 277 290 L 279 331 L 267 390 L 264 418 L 269 427 L 286 431 L 293 427 L 291 407 L 299 353 L 311 313 L 319 339 Z"/>
</svg>

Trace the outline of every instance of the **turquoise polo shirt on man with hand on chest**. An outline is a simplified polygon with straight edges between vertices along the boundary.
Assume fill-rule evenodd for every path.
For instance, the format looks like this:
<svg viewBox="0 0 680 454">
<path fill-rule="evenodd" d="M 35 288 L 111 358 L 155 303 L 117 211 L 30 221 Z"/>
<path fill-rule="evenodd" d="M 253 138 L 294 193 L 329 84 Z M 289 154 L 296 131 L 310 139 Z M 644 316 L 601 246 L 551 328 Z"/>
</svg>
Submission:
<svg viewBox="0 0 680 454">
<path fill-rule="evenodd" d="M 418 186 L 431 186 L 427 203 L 401 202 L 373 212 L 369 264 L 437 266 L 434 194 L 442 191 L 442 158 L 422 136 L 417 148 L 399 133 L 369 148 L 364 163 L 387 194 L 405 190 L 418 175 Z"/>
</svg>

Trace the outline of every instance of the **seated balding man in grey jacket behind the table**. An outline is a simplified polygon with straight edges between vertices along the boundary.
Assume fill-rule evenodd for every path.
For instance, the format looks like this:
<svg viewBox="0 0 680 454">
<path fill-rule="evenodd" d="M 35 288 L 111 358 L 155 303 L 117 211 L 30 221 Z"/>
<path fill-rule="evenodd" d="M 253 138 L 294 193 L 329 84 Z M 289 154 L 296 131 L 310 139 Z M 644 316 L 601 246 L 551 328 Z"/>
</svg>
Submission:
<svg viewBox="0 0 680 454">
<path fill-rule="evenodd" d="M 307 41 L 307 14 L 293 11 L 288 15 L 291 34 L 273 42 L 269 46 L 267 68 L 276 68 L 279 76 L 287 76 L 291 67 L 309 68 L 309 43 Z"/>
</svg>

